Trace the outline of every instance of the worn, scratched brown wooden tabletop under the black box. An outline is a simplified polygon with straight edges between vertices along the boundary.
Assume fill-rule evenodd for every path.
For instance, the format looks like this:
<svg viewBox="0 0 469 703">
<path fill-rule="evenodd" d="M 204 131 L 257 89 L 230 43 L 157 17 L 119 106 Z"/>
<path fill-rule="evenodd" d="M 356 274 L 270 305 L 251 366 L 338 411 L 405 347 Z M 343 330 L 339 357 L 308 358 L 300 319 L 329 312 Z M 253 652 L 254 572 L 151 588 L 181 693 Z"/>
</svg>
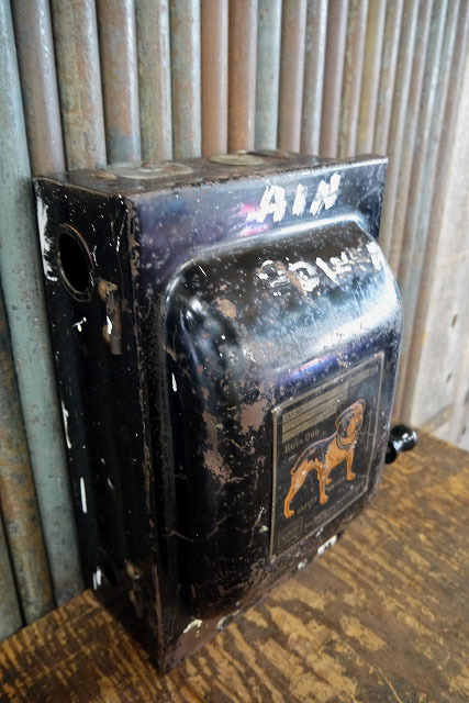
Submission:
<svg viewBox="0 0 469 703">
<path fill-rule="evenodd" d="M 86 591 L 0 646 L 0 700 L 469 700 L 469 454 L 431 436 L 337 545 L 169 674 Z"/>
</svg>

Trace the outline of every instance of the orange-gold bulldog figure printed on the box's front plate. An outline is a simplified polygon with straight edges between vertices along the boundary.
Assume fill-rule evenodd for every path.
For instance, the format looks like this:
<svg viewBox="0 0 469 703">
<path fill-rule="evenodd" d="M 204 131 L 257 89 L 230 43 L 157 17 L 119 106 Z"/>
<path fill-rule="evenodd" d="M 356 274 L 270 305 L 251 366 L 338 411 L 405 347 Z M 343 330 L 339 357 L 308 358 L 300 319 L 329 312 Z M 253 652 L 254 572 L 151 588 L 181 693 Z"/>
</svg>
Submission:
<svg viewBox="0 0 469 703">
<path fill-rule="evenodd" d="M 365 401 L 357 400 L 336 417 L 336 432 L 333 435 L 311 444 L 300 454 L 291 469 L 291 486 L 284 499 L 283 514 L 286 517 L 294 515 L 290 503 L 303 486 L 310 471 L 314 470 L 317 473 L 321 505 L 328 501 L 326 486 L 332 482 L 330 473 L 335 467 L 346 461 L 347 481 L 355 479 L 351 468 L 358 434 L 364 425 L 364 413 Z"/>
</svg>

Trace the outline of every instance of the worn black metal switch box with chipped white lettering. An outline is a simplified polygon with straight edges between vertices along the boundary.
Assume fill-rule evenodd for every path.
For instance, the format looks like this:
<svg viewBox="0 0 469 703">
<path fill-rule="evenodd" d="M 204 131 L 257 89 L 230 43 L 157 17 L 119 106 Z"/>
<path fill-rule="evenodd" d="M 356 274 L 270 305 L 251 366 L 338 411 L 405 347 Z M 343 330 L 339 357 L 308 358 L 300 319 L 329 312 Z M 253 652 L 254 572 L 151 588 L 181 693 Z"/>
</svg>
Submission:
<svg viewBox="0 0 469 703">
<path fill-rule="evenodd" d="M 161 670 L 379 482 L 401 336 L 384 176 L 259 153 L 35 182 L 86 579 Z"/>
</svg>

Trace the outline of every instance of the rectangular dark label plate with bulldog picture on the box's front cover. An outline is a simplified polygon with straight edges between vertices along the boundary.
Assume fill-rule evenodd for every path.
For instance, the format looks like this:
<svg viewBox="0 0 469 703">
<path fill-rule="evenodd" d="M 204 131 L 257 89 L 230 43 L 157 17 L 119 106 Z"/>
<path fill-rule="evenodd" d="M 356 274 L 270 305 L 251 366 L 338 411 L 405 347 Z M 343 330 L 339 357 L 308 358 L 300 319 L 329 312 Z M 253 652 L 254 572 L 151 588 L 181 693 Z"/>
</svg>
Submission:
<svg viewBox="0 0 469 703">
<path fill-rule="evenodd" d="M 382 354 L 273 410 L 270 556 L 317 532 L 368 488 Z"/>
</svg>

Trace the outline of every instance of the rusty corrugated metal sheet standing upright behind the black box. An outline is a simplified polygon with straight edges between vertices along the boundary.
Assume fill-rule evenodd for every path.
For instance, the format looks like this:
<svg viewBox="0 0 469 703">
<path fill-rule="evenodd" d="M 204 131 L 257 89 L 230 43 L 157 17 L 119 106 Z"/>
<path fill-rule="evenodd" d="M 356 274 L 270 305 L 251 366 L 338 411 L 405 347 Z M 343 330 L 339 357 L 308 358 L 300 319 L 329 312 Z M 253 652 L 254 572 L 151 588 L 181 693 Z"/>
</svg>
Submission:
<svg viewBox="0 0 469 703">
<path fill-rule="evenodd" d="M 436 304 L 432 281 L 448 198 L 444 174 L 467 65 L 469 5 L 468 0 L 12 0 L 12 8 L 14 37 L 8 0 L 0 10 L 0 270 L 47 561 L 55 600 L 63 602 L 81 582 L 31 171 L 254 145 L 327 157 L 388 154 L 381 244 L 403 294 L 397 412 L 409 420 L 418 403 L 425 324 Z M 451 344 L 453 354 L 459 344 L 462 358 L 460 337 L 453 335 Z M 448 411 L 436 402 L 433 412 L 437 417 Z M 0 610 L 3 636 L 22 617 L 20 567 L 13 559 L 19 601 L 9 554 L 12 545 L 5 549 L 0 538 L 0 583 L 11 603 L 8 612 Z M 46 580 L 37 577 L 32 598 L 49 607 L 48 596 L 40 595 Z"/>
</svg>

